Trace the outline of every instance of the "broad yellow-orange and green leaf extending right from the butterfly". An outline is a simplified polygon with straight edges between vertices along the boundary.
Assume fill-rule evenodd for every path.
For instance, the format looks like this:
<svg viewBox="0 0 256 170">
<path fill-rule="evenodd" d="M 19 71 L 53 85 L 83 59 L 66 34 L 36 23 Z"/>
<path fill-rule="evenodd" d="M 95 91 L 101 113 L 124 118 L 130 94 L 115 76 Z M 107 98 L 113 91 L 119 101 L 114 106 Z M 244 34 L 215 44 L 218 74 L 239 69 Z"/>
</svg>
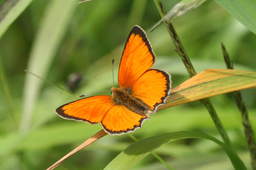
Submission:
<svg viewBox="0 0 256 170">
<path fill-rule="evenodd" d="M 256 87 L 256 72 L 207 69 L 173 88 L 158 110 L 252 87 Z"/>
</svg>

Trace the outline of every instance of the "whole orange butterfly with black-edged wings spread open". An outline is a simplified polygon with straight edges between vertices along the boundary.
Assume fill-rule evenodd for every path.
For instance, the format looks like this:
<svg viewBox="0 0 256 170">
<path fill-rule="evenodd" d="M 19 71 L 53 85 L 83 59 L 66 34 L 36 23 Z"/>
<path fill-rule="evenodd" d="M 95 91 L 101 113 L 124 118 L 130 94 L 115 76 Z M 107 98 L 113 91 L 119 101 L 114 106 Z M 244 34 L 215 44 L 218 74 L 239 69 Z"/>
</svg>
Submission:
<svg viewBox="0 0 256 170">
<path fill-rule="evenodd" d="M 87 97 L 64 104 L 56 113 L 64 118 L 90 124 L 101 122 L 104 131 L 121 135 L 141 128 L 150 114 L 165 103 L 171 90 L 171 75 L 151 68 L 156 61 L 145 31 L 134 26 L 127 38 L 118 71 L 119 87 L 112 96 Z"/>
</svg>

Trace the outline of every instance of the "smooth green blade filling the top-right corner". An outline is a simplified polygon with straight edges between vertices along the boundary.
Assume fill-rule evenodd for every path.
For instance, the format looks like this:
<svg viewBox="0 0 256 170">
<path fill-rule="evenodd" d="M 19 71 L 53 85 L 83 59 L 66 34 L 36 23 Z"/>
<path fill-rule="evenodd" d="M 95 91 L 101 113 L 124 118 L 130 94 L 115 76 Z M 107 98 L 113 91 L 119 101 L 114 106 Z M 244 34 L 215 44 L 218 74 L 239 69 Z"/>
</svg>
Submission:
<svg viewBox="0 0 256 170">
<path fill-rule="evenodd" d="M 256 34 L 255 0 L 215 0 L 215 2 Z"/>
</svg>

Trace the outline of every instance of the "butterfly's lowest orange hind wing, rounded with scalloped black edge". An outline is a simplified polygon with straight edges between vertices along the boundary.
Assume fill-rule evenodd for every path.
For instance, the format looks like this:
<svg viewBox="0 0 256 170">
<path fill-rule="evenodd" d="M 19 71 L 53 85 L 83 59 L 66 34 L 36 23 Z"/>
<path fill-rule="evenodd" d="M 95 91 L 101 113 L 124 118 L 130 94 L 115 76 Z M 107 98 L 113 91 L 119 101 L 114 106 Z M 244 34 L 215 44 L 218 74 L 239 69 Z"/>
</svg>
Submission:
<svg viewBox="0 0 256 170">
<path fill-rule="evenodd" d="M 143 121 L 149 119 L 130 111 L 124 105 L 114 105 L 102 119 L 102 127 L 107 133 L 124 134 L 140 128 Z"/>
</svg>

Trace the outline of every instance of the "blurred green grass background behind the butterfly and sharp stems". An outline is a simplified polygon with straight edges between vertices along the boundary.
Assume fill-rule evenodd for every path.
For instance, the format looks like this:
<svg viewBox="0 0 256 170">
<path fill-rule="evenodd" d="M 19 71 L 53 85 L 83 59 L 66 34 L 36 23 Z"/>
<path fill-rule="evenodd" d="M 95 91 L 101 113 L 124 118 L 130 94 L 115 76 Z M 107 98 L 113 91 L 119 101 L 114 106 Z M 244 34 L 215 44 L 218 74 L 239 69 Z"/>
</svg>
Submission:
<svg viewBox="0 0 256 170">
<path fill-rule="evenodd" d="M 7 92 L 4 83 L 0 88 L 0 169 L 46 169 L 102 129 L 100 124 L 58 117 L 55 109 L 77 98 L 26 74 L 24 69 L 70 92 L 68 76 L 81 74 L 82 81 L 72 92 L 74 96 L 109 89 L 112 59 L 115 59 L 115 84 L 118 84 L 124 44 L 131 28 L 137 24 L 146 31 L 157 55 L 154 67 L 172 75 L 172 86 L 189 78 L 165 26 L 162 24 L 148 32 L 160 19 L 153 1 L 76 2 L 32 1 L 0 39 L 0 63 L 7 83 Z M 162 1 L 162 4 L 169 11 L 177 2 Z M 197 72 L 226 68 L 221 42 L 235 69 L 256 71 L 255 34 L 214 1 L 207 1 L 186 13 L 173 25 Z M 110 95 L 109 92 L 102 94 Z M 242 96 L 255 131 L 256 89 L 242 90 Z M 232 94 L 210 100 L 240 158 L 250 168 L 241 116 Z M 221 140 L 210 115 L 198 101 L 157 112 L 133 135 L 142 139 L 183 130 L 201 131 Z M 133 142 L 127 135 L 107 135 L 75 153 L 56 169 L 103 169 Z M 232 169 L 226 153 L 208 140 L 175 141 L 156 153 L 179 170 Z M 148 155 L 132 169 L 167 168 Z"/>
</svg>

